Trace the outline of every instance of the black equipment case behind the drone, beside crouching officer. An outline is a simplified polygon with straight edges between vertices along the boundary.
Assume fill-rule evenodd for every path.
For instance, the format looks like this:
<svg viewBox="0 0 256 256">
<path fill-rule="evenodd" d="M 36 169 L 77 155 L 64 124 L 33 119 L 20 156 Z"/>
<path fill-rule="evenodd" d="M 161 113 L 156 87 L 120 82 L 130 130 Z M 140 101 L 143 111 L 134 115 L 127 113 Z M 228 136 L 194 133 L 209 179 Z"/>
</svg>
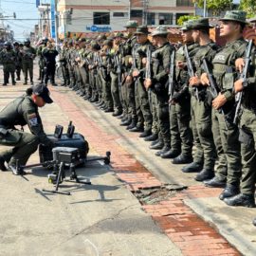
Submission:
<svg viewBox="0 0 256 256">
<path fill-rule="evenodd" d="M 66 134 L 63 134 L 63 126 L 56 125 L 54 135 L 47 137 L 54 141 L 54 147 L 77 148 L 80 159 L 84 163 L 89 152 L 89 145 L 85 138 L 79 133 L 74 133 L 74 130 L 75 127 L 72 125 L 72 122 L 69 123 Z M 40 144 L 39 157 L 40 163 L 51 161 L 53 159 L 52 148 Z"/>
</svg>

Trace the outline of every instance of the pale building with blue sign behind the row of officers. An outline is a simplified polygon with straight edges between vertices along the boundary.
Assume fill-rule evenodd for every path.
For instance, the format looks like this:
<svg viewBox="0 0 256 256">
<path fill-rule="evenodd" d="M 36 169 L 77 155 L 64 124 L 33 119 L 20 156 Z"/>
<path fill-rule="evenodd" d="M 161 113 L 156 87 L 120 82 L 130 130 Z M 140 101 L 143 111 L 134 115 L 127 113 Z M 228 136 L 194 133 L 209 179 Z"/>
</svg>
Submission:
<svg viewBox="0 0 256 256">
<path fill-rule="evenodd" d="M 57 10 L 61 38 L 123 30 L 129 19 L 148 26 L 174 26 L 180 16 L 194 14 L 192 0 L 58 0 Z"/>
</svg>

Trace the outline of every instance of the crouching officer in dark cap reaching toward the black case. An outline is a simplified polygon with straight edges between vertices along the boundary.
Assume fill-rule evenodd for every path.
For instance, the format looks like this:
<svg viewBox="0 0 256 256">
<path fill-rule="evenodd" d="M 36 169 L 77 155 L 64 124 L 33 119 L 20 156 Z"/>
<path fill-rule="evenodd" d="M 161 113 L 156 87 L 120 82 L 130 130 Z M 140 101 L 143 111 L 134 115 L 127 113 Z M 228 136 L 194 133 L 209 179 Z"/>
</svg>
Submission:
<svg viewBox="0 0 256 256">
<path fill-rule="evenodd" d="M 13 174 L 21 174 L 16 168 L 17 160 L 20 165 L 26 165 L 29 156 L 36 152 L 39 143 L 52 146 L 53 142 L 46 137 L 38 113 L 38 107 L 52 102 L 47 87 L 44 84 L 37 84 L 27 89 L 27 95 L 11 101 L 0 112 L 0 144 L 14 146 L 0 155 L 2 171 L 7 171 L 5 166 L 7 162 Z M 31 134 L 15 128 L 16 125 L 23 127 L 26 124 Z"/>
</svg>

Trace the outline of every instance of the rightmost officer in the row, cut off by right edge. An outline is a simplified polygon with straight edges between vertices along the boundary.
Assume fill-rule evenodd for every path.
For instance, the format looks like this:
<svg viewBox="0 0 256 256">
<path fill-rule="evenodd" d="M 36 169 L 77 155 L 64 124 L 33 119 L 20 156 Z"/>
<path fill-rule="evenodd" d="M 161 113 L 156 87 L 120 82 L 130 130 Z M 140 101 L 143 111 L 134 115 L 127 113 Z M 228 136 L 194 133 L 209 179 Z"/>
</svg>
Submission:
<svg viewBox="0 0 256 256">
<path fill-rule="evenodd" d="M 241 154 L 243 159 L 242 179 L 240 193 L 224 199 L 229 206 L 255 207 L 255 183 L 256 183 L 256 54 L 255 46 L 249 54 L 251 63 L 246 79 L 234 82 L 235 93 L 243 93 L 242 115 L 239 117 Z M 242 73 L 245 61 L 242 58 L 236 60 L 236 67 Z M 256 225 L 256 220 L 254 220 Z"/>
</svg>

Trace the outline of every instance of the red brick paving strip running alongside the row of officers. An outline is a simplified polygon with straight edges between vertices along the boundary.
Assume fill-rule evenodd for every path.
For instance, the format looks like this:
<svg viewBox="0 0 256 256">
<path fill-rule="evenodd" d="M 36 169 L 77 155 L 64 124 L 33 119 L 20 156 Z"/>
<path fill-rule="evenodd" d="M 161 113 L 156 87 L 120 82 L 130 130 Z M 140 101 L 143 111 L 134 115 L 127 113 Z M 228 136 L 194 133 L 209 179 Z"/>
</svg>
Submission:
<svg viewBox="0 0 256 256">
<path fill-rule="evenodd" d="M 119 145 L 119 134 L 109 134 L 90 118 L 85 108 L 88 103 L 81 102 L 73 92 L 66 94 L 65 88 L 51 88 L 51 92 L 54 101 L 68 118 L 74 121 L 78 130 L 86 135 L 90 145 L 99 154 L 102 155 L 111 149 L 112 167 L 131 192 L 163 185 L 133 155 Z M 93 107 L 88 109 L 88 113 L 92 111 L 91 109 Z M 135 137 L 135 135 L 131 136 Z M 177 192 L 168 200 L 156 205 L 143 205 L 142 208 L 151 214 L 159 227 L 176 246 L 181 248 L 184 255 L 241 255 L 224 237 L 184 204 L 186 198 L 212 197 L 220 192 L 221 190 L 195 185 L 183 192 Z"/>
</svg>

